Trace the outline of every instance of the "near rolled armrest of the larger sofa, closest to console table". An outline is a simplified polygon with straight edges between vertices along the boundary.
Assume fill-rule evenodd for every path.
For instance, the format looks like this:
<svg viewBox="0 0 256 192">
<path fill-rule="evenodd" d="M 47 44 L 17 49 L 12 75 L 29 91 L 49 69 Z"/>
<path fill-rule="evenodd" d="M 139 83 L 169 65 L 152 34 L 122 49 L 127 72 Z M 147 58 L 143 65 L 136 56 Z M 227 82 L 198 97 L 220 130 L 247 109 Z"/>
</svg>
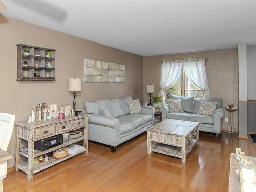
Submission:
<svg viewBox="0 0 256 192">
<path fill-rule="evenodd" d="M 120 126 L 119 120 L 117 118 L 108 117 L 105 115 L 95 115 L 95 114 L 90 114 L 89 124 L 105 126 L 113 129 Z"/>
</svg>

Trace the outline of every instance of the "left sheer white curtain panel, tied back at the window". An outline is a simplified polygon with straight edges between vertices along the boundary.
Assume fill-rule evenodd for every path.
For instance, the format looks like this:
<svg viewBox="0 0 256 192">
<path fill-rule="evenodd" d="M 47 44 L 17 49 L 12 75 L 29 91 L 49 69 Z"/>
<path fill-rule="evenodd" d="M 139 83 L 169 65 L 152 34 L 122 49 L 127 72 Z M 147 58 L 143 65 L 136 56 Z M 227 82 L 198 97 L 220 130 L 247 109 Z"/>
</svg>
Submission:
<svg viewBox="0 0 256 192">
<path fill-rule="evenodd" d="M 181 63 L 172 61 L 169 63 L 162 63 L 161 80 L 160 80 L 160 92 L 162 96 L 163 104 L 166 104 L 164 89 L 172 87 L 173 84 L 178 80 L 181 74 Z"/>
</svg>

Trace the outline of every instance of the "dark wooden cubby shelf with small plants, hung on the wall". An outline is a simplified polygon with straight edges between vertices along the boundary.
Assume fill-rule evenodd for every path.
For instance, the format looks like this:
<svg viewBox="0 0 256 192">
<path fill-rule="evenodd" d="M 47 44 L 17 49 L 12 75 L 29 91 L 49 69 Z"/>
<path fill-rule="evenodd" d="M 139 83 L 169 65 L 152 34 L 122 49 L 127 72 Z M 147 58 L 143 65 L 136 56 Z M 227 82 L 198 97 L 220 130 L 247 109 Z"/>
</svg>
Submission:
<svg viewBox="0 0 256 192">
<path fill-rule="evenodd" d="M 28 49 L 28 53 L 24 53 Z M 17 45 L 17 81 L 55 81 L 55 49 Z M 49 54 L 50 53 L 50 54 Z"/>
</svg>

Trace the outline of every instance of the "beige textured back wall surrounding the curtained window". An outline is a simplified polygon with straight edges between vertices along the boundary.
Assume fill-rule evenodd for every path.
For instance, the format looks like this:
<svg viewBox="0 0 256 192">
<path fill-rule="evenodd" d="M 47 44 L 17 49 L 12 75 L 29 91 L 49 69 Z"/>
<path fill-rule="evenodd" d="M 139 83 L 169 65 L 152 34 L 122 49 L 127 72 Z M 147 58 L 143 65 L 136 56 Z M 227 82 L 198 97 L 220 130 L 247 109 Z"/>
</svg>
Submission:
<svg viewBox="0 0 256 192">
<path fill-rule="evenodd" d="M 212 98 L 222 98 L 223 107 L 227 104 L 238 106 L 238 51 L 237 49 L 180 53 L 148 56 L 143 58 L 144 101 L 148 101 L 146 84 L 154 84 L 155 94 L 160 90 L 161 64 L 163 60 L 208 58 L 206 68 Z M 225 117 L 228 113 L 225 111 Z M 238 128 L 238 113 L 234 113 L 234 126 Z M 222 119 L 222 128 L 226 128 Z"/>
</svg>

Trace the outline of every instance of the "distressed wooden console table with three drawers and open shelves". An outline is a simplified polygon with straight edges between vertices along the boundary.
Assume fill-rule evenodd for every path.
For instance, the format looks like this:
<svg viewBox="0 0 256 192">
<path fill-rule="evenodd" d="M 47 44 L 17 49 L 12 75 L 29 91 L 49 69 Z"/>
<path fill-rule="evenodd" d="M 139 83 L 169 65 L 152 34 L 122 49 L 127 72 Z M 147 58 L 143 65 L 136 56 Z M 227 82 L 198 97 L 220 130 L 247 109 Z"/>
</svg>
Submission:
<svg viewBox="0 0 256 192">
<path fill-rule="evenodd" d="M 45 151 L 34 150 L 34 142 L 40 139 L 48 138 L 61 133 L 70 132 L 73 130 L 83 129 L 83 136 L 77 139 L 70 139 L 68 142 L 63 142 L 61 145 L 49 148 Z M 19 151 L 22 148 L 22 140 L 28 142 L 28 152 Z M 83 141 L 83 150 L 76 154 L 64 158 L 51 158 L 44 163 L 34 164 L 34 157 L 44 155 L 46 153 L 57 150 L 77 142 Z M 77 154 L 88 153 L 88 115 L 82 116 L 66 116 L 65 119 L 48 119 L 37 121 L 34 123 L 17 122 L 15 123 L 15 171 L 22 170 L 27 174 L 28 180 L 33 179 L 33 175 L 41 170 L 44 170 L 52 165 L 65 161 Z M 21 156 L 27 158 L 27 162 L 20 162 Z"/>
</svg>

